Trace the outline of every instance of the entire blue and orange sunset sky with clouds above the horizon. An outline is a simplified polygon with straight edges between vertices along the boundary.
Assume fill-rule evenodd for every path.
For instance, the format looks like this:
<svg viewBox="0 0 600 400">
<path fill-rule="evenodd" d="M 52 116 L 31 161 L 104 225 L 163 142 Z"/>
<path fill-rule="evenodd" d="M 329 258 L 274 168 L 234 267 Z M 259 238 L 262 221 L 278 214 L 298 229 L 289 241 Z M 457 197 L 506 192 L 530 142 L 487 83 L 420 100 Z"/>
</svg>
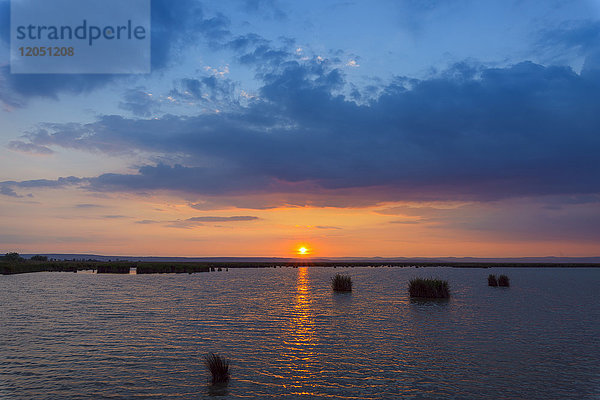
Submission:
<svg viewBox="0 0 600 400">
<path fill-rule="evenodd" d="M 11 74 L 0 252 L 600 255 L 599 0 L 152 0 L 150 74 Z"/>
</svg>

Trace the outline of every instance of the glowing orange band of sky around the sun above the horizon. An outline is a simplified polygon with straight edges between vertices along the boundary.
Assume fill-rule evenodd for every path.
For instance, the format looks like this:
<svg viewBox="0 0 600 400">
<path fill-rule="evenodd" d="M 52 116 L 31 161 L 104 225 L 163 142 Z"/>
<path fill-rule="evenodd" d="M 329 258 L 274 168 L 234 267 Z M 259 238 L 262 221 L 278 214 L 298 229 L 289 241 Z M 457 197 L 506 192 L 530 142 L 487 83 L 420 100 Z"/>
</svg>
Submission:
<svg viewBox="0 0 600 400">
<path fill-rule="evenodd" d="M 466 226 L 526 202 L 384 203 L 364 208 L 197 210 L 168 195 L 44 189 L 0 199 L 2 251 L 148 256 L 592 256 L 592 240 Z M 231 218 L 233 217 L 233 218 Z M 240 218 L 242 220 L 239 220 Z M 190 218 L 196 220 L 190 221 Z M 200 218 L 200 220 L 198 220 Z M 251 219 L 250 219 L 251 218 Z M 246 219 L 246 220 L 245 220 Z M 513 221 L 513 222 L 515 222 Z M 489 223 L 489 221 L 488 221 Z M 485 224 L 484 224 L 485 225 Z"/>
</svg>

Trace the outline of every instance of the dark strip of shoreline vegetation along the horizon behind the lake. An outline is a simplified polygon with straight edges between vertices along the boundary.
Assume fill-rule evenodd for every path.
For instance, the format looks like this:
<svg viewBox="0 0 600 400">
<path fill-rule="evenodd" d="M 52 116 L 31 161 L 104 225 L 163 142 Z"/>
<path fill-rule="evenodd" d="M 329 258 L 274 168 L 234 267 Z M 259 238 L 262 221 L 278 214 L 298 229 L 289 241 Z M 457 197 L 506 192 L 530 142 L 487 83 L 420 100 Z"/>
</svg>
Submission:
<svg viewBox="0 0 600 400">
<path fill-rule="evenodd" d="M 77 272 L 95 270 L 99 273 L 129 273 L 136 268 L 137 274 L 157 273 L 196 273 L 218 271 L 219 268 L 282 268 L 282 267 L 452 267 L 452 268 L 600 268 L 598 263 L 465 263 L 465 262 L 341 262 L 341 261 L 311 261 L 295 260 L 287 262 L 253 262 L 253 261 L 223 261 L 223 262 L 168 262 L 168 261 L 98 261 L 93 259 L 53 260 L 46 256 L 34 256 L 25 259 L 17 253 L 7 253 L 0 256 L 0 274 L 13 275 L 32 272 Z M 100 272 L 102 270 L 103 272 Z M 114 272 L 113 272 L 114 271 Z M 121 271 L 121 272 L 117 272 Z"/>
</svg>

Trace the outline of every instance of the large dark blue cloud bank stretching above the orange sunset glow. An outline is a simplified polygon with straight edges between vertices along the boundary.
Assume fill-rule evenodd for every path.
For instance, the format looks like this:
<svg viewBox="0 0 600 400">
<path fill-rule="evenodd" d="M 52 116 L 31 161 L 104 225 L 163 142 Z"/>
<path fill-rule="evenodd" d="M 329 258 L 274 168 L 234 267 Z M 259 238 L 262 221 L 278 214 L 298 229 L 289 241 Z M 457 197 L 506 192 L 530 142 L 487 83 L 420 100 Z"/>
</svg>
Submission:
<svg viewBox="0 0 600 400">
<path fill-rule="evenodd" d="M 594 75 L 531 62 L 462 63 L 427 80 L 397 78 L 361 104 L 340 94 L 343 73 L 319 60 L 286 62 L 262 79 L 259 98 L 228 112 L 106 116 L 86 125 L 46 124 L 29 138 L 40 146 L 186 156 L 181 164 L 90 178 L 94 190 L 280 194 L 279 201 L 295 197 L 299 205 L 317 197 L 335 203 L 329 195 L 346 191 L 349 197 L 337 200 L 346 206 L 352 199 L 600 192 Z"/>
</svg>

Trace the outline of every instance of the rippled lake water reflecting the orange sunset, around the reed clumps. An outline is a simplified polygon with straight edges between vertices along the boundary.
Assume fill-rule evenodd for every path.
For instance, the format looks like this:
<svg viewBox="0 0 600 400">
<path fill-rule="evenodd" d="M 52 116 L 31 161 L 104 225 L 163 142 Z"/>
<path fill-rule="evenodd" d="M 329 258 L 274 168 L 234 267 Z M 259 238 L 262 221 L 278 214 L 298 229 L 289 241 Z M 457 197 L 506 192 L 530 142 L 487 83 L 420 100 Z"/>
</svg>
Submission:
<svg viewBox="0 0 600 400">
<path fill-rule="evenodd" d="M 329 278 L 350 274 L 354 292 Z M 507 273 L 512 287 L 490 288 Z M 446 302 L 412 302 L 440 277 Z M 0 398 L 599 399 L 600 269 L 0 276 Z M 201 362 L 232 360 L 212 388 Z"/>
</svg>

